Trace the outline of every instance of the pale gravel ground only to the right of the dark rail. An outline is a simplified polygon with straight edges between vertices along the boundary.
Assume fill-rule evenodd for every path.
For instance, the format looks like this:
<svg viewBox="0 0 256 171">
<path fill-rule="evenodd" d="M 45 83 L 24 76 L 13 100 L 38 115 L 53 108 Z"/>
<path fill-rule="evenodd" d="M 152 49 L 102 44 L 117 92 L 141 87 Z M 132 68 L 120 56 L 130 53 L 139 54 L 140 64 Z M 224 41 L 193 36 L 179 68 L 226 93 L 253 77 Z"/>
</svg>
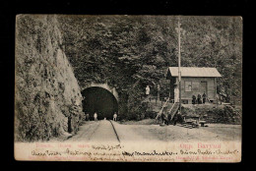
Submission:
<svg viewBox="0 0 256 171">
<path fill-rule="evenodd" d="M 241 141 L 241 125 L 208 124 L 208 127 L 189 129 L 182 127 L 181 125 L 169 125 L 163 127 L 151 124 L 146 125 L 145 122 L 152 123 L 151 121 L 144 121 L 142 125 L 138 125 L 138 122 L 135 122 L 135 124 L 132 125 L 132 122 L 129 121 L 128 125 L 116 123 L 115 127 L 118 128 L 117 130 L 120 132 L 121 135 L 123 134 L 122 137 L 129 137 L 128 139 L 125 138 L 125 141 Z M 129 132 L 127 132 L 127 130 L 129 130 Z M 136 138 L 133 138 L 133 136 L 131 136 L 134 134 L 136 134 Z M 138 139 L 137 137 L 139 137 L 140 139 Z"/>
</svg>

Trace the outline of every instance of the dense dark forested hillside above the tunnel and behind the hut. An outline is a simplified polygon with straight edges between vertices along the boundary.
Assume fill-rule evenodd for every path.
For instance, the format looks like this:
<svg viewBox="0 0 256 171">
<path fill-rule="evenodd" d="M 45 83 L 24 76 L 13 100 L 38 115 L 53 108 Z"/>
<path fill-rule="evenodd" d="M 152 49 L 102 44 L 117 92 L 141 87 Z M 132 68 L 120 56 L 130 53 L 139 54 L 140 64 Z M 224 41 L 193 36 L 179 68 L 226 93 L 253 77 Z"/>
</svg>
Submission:
<svg viewBox="0 0 256 171">
<path fill-rule="evenodd" d="M 80 85 L 108 83 L 120 95 L 120 112 L 138 117 L 145 86 L 168 95 L 167 67 L 177 66 L 177 17 L 59 16 L 64 51 Z M 181 65 L 216 67 L 218 92 L 241 103 L 242 20 L 181 17 Z"/>
</svg>

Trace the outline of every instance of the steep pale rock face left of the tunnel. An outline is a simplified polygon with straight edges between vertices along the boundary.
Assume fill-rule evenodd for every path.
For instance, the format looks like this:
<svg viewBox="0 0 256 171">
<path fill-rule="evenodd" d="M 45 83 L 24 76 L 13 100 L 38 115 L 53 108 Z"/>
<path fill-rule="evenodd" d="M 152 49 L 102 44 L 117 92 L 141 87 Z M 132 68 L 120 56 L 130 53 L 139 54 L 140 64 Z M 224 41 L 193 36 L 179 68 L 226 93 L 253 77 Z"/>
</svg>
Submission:
<svg viewBox="0 0 256 171">
<path fill-rule="evenodd" d="M 55 16 L 17 17 L 15 141 L 76 134 L 84 117 L 58 25 Z"/>
</svg>

